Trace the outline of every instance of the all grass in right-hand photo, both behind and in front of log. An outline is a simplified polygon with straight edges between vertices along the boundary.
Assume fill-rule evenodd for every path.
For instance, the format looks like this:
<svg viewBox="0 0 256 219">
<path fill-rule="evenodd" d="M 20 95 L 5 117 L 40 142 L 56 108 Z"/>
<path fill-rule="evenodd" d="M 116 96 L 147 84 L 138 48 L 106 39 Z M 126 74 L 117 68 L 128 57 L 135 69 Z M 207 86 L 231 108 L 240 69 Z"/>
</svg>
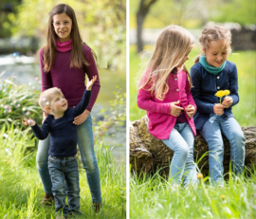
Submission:
<svg viewBox="0 0 256 219">
<path fill-rule="evenodd" d="M 146 46 L 152 49 L 152 46 Z M 200 51 L 193 49 L 186 66 L 190 69 Z M 148 57 L 148 56 L 146 56 Z M 146 115 L 137 107 L 137 72 L 143 71 L 136 47 L 130 48 L 130 120 Z M 240 102 L 233 114 L 241 126 L 256 125 L 256 51 L 235 52 L 229 61 L 238 68 Z M 209 176 L 197 188 L 174 189 L 158 173 L 130 177 L 130 218 L 256 218 L 256 173 L 229 180 L 224 188 L 210 186 Z M 203 183 L 205 182 L 205 183 Z"/>
</svg>

